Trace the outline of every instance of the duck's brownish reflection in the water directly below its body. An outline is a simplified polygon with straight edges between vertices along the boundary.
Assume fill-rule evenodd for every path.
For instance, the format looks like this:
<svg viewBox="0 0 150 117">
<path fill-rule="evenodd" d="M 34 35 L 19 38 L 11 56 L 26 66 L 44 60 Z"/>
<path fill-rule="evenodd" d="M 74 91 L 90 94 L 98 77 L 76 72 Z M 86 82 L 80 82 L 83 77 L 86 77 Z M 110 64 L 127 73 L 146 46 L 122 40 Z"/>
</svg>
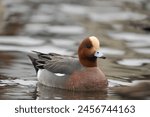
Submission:
<svg viewBox="0 0 150 117">
<path fill-rule="evenodd" d="M 107 98 L 107 91 L 79 92 L 69 91 L 57 88 L 46 87 L 40 83 L 37 84 L 37 99 L 39 100 L 103 100 Z"/>
</svg>

